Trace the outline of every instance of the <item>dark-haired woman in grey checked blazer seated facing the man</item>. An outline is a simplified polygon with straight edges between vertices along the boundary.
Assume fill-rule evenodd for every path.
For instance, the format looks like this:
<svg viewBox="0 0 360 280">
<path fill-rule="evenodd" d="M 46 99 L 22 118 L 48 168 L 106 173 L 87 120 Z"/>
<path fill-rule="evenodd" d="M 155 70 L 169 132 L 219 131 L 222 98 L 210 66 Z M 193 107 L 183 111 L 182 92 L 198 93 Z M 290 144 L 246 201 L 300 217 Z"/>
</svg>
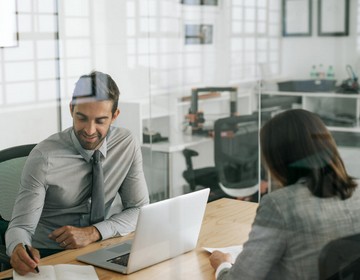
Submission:
<svg viewBox="0 0 360 280">
<path fill-rule="evenodd" d="M 331 240 L 360 232 L 360 191 L 321 119 L 288 110 L 260 132 L 262 157 L 283 187 L 265 195 L 243 251 L 210 257 L 217 279 L 318 279 Z M 241 213 L 239 213 L 241 215 Z"/>
</svg>

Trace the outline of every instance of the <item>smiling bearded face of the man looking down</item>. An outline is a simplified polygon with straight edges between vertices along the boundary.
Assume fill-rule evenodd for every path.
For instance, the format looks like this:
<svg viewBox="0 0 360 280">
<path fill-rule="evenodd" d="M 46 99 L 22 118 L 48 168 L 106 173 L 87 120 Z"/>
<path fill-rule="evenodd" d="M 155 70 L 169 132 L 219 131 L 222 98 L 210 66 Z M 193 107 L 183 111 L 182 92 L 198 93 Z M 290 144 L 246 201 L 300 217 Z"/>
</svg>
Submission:
<svg viewBox="0 0 360 280">
<path fill-rule="evenodd" d="M 119 115 L 111 112 L 112 101 L 94 101 L 70 105 L 76 138 L 86 150 L 95 150 L 101 146 L 110 125 Z"/>
</svg>

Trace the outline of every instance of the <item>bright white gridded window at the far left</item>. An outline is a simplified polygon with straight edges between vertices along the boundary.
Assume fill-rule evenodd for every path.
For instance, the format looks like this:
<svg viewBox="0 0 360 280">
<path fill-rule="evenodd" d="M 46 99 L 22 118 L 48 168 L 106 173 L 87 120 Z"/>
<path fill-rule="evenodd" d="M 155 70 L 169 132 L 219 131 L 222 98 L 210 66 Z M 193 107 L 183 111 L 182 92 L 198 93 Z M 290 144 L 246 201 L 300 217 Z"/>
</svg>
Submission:
<svg viewBox="0 0 360 280">
<path fill-rule="evenodd" d="M 0 49 L 0 107 L 56 100 L 57 16 L 55 0 L 19 3 L 19 44 Z"/>
</svg>

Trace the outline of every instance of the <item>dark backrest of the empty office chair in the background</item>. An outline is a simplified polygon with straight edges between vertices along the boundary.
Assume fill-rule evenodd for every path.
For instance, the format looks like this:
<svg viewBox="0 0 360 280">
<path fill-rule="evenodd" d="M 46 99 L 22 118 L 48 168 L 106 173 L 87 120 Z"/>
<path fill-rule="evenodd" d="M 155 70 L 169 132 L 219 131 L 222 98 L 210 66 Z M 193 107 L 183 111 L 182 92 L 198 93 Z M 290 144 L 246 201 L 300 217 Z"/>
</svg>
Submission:
<svg viewBox="0 0 360 280">
<path fill-rule="evenodd" d="M 257 115 L 233 116 L 215 122 L 215 167 L 224 187 L 241 189 L 258 184 L 258 132 Z"/>
</svg>

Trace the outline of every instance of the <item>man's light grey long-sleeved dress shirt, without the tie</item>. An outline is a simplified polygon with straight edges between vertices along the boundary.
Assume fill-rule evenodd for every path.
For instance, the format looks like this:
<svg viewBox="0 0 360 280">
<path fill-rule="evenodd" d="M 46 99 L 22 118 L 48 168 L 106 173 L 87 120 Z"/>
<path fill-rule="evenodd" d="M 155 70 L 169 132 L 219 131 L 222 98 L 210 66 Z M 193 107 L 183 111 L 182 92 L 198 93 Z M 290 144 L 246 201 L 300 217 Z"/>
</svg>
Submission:
<svg viewBox="0 0 360 280">
<path fill-rule="evenodd" d="M 100 147 L 104 171 L 105 221 L 95 224 L 102 239 L 134 231 L 139 208 L 149 203 L 141 149 L 130 132 L 111 127 Z M 50 136 L 29 155 L 6 232 L 7 253 L 19 243 L 60 249 L 48 238 L 64 225 L 90 225 L 93 151 L 73 128 Z"/>
</svg>

